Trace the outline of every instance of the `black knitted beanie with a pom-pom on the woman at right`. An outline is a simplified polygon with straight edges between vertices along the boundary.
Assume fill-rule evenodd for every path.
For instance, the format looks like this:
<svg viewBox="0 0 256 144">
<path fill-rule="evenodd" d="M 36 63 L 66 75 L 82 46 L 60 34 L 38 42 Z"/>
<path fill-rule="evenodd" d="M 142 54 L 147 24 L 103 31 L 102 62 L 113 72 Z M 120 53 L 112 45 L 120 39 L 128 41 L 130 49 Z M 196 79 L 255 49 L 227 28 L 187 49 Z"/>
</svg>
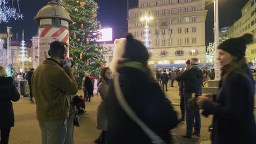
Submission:
<svg viewBox="0 0 256 144">
<path fill-rule="evenodd" d="M 238 58 L 245 57 L 246 45 L 251 44 L 253 40 L 253 34 L 246 33 L 242 37 L 230 38 L 223 41 L 218 46 L 218 49 L 224 50 Z"/>
</svg>

